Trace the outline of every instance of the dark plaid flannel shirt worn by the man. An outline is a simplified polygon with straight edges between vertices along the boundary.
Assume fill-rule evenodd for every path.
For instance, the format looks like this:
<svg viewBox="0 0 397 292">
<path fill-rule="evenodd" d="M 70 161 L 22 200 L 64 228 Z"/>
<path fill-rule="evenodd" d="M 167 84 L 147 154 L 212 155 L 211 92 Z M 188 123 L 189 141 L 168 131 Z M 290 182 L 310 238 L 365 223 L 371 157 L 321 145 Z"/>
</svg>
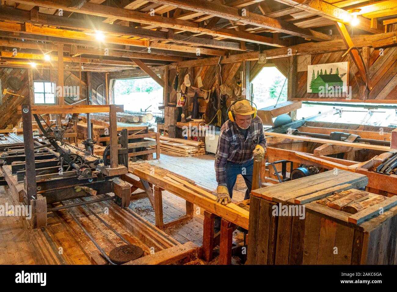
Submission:
<svg viewBox="0 0 397 292">
<path fill-rule="evenodd" d="M 250 161 L 253 158 L 252 151 L 258 144 L 266 151 L 266 138 L 263 133 L 262 120 L 259 117 L 252 119 L 247 139 L 244 139 L 235 122 L 227 120 L 222 125 L 215 155 L 216 181 L 219 186 L 226 186 L 226 162 L 243 164 Z"/>
</svg>

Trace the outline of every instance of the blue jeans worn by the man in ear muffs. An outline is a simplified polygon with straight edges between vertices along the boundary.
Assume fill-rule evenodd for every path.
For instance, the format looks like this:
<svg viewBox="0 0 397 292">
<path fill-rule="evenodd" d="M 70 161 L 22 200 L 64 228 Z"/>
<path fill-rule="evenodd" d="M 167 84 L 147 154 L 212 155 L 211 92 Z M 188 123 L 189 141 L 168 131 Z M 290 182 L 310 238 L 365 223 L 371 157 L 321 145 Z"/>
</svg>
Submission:
<svg viewBox="0 0 397 292">
<path fill-rule="evenodd" d="M 226 162 L 226 186 L 229 190 L 230 197 L 233 197 L 233 187 L 236 183 L 237 176 L 241 174 L 244 178 L 247 190 L 245 191 L 244 199 L 249 199 L 251 188 L 252 188 L 252 171 L 254 169 L 254 160 L 251 159 L 243 164 L 236 164 L 232 162 Z M 220 228 L 221 217 L 215 217 L 214 228 Z"/>
</svg>

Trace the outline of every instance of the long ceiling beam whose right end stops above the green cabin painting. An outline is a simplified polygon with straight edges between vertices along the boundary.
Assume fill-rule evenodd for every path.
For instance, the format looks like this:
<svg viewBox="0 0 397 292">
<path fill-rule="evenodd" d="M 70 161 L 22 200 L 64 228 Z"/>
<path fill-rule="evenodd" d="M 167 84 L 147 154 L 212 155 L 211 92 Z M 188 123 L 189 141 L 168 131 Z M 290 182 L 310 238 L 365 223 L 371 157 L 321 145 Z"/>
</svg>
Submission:
<svg viewBox="0 0 397 292">
<path fill-rule="evenodd" d="M 324 33 L 319 33 L 311 29 L 301 29 L 286 21 L 254 14 L 249 11 L 246 11 L 243 14 L 238 8 L 229 7 L 216 2 L 209 2 L 206 0 L 152 0 L 152 2 L 173 5 L 182 9 L 202 12 L 204 14 L 210 14 L 232 21 L 238 21 L 239 23 L 264 27 L 281 33 L 287 33 L 289 35 L 314 39 L 316 41 L 331 40 L 331 37 Z"/>
</svg>

